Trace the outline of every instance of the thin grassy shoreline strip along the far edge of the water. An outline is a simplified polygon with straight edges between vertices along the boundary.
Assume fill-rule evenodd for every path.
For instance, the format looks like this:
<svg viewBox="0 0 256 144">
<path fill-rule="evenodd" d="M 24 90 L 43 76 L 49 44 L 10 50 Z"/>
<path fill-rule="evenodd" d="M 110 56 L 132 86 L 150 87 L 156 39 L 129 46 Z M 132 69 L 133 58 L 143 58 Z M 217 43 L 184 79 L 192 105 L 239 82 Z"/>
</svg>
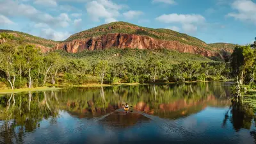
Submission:
<svg viewBox="0 0 256 144">
<path fill-rule="evenodd" d="M 210 83 L 214 81 L 185 81 L 184 83 Z M 218 81 L 218 82 L 229 82 L 229 81 Z M 63 88 L 99 88 L 99 87 L 111 87 L 111 86 L 143 86 L 143 85 L 162 85 L 162 84 L 179 84 L 176 82 L 169 83 L 115 83 L 115 84 L 83 84 L 83 85 L 65 85 L 65 84 L 56 84 L 57 87 L 37 87 L 37 88 L 20 88 L 20 89 L 4 89 L 0 90 L 1 94 L 10 94 L 10 93 L 22 93 L 22 92 L 41 92 L 49 90 L 61 90 Z"/>
</svg>

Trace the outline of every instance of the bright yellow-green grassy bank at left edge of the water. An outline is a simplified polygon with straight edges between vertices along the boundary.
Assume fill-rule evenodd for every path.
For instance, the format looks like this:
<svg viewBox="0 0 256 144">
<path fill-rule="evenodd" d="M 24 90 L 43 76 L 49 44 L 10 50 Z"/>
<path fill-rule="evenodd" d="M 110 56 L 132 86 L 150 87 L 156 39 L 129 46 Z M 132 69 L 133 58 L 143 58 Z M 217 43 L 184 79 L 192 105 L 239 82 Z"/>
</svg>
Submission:
<svg viewBox="0 0 256 144">
<path fill-rule="evenodd" d="M 49 88 L 49 87 L 38 87 L 38 88 L 20 88 L 20 89 L 6 89 L 0 90 L 0 94 L 7 93 L 21 93 L 21 92 L 36 92 L 36 91 L 48 91 L 48 90 L 60 90 L 61 88 Z"/>
</svg>

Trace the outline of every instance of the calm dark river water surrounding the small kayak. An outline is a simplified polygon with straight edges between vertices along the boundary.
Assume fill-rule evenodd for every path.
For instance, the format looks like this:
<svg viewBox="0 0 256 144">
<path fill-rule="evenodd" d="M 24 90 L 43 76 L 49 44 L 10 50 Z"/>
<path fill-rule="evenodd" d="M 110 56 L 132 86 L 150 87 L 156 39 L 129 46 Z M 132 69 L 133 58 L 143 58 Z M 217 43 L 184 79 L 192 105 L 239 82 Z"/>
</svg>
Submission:
<svg viewBox="0 0 256 144">
<path fill-rule="evenodd" d="M 191 83 L 4 95 L 0 143 L 255 143 L 254 112 L 231 101 L 229 89 Z"/>
</svg>

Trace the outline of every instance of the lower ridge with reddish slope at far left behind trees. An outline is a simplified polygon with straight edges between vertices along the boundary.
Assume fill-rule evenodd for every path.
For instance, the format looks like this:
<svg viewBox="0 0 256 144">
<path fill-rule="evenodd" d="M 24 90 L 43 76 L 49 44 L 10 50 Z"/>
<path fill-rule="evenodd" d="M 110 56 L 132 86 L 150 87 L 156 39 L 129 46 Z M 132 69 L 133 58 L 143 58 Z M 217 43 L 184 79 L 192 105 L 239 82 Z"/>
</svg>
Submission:
<svg viewBox="0 0 256 144">
<path fill-rule="evenodd" d="M 23 40 L 28 44 L 33 44 L 40 48 L 42 52 L 49 52 L 58 44 L 58 42 L 55 42 L 54 40 L 47 40 L 45 38 L 40 38 L 38 36 L 29 35 L 28 33 L 22 33 L 19 31 L 0 29 L 0 33 L 10 33 L 14 36 L 14 40 Z"/>
</svg>

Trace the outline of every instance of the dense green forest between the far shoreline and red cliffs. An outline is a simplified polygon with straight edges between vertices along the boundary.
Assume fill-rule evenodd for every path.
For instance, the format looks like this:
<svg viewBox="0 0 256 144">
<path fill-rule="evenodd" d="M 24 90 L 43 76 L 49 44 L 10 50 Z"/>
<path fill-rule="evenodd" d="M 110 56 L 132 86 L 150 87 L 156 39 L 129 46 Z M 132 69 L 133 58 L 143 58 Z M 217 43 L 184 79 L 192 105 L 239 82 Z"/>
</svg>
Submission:
<svg viewBox="0 0 256 144">
<path fill-rule="evenodd" d="M 12 34 L 1 33 L 0 87 L 217 81 L 229 77 L 227 63 L 167 49 L 106 49 L 42 53 Z"/>
</svg>

